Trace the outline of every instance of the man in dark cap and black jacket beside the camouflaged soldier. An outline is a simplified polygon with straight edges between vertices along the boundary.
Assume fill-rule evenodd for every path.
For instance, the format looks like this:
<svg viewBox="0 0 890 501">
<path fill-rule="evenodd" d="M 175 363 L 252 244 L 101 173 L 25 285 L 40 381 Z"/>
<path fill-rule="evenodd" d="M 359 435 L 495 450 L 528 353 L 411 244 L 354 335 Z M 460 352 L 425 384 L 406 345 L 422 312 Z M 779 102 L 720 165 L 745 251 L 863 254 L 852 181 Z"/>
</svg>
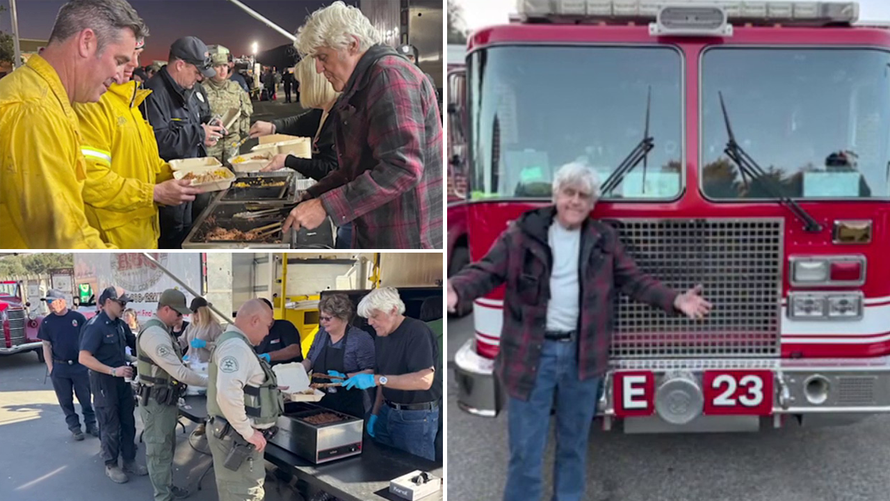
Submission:
<svg viewBox="0 0 890 501">
<path fill-rule="evenodd" d="M 222 125 L 209 125 L 206 96 L 195 84 L 216 75 L 207 46 L 198 37 L 182 37 L 170 45 L 169 62 L 145 87 L 152 93 L 142 104 L 142 114 L 149 119 L 158 139 L 158 153 L 164 160 L 193 159 L 206 156 L 206 147 L 223 137 Z M 206 111 L 205 111 L 206 113 Z M 173 207 L 159 209 L 161 237 L 159 249 L 178 249 L 189 234 L 192 204 L 205 205 L 209 195 Z"/>
</svg>

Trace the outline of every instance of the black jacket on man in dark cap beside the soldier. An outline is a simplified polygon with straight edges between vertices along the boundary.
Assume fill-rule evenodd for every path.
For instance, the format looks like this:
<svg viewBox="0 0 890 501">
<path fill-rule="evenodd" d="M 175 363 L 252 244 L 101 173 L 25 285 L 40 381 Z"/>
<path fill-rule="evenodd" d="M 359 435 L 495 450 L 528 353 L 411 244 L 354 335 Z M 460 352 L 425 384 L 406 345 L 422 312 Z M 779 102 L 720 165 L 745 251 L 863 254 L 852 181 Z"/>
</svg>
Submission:
<svg viewBox="0 0 890 501">
<path fill-rule="evenodd" d="M 169 161 L 206 156 L 206 135 L 194 90 L 174 82 L 166 66 L 145 87 L 152 92 L 142 103 L 142 115 L 155 129 L 160 157 Z"/>
</svg>

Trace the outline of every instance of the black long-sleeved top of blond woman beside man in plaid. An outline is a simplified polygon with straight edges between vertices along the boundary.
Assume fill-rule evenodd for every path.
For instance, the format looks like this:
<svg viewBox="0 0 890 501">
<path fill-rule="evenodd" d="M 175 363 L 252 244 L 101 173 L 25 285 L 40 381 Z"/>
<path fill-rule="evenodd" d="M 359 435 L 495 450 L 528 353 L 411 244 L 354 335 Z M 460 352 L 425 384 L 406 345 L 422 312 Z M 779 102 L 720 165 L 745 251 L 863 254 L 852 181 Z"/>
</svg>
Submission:
<svg viewBox="0 0 890 501">
<path fill-rule="evenodd" d="M 321 115 L 324 111 L 313 109 L 302 115 L 287 117 L 287 119 L 272 120 L 275 132 L 290 136 L 315 137 L 319 130 Z M 319 140 L 312 142 L 312 159 L 301 159 L 294 155 L 287 155 L 284 164 L 287 168 L 293 168 L 305 177 L 312 177 L 320 181 L 337 168 L 336 147 L 334 146 L 334 124 L 336 117 L 334 111 L 328 115 L 325 125 L 321 127 Z"/>
</svg>

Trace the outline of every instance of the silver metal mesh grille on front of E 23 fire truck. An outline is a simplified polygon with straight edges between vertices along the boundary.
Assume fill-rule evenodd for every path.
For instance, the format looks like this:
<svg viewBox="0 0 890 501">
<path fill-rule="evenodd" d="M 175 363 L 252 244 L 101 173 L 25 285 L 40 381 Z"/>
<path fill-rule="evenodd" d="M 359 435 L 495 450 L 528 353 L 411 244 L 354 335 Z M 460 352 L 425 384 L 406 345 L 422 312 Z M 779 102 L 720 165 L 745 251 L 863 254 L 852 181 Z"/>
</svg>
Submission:
<svg viewBox="0 0 890 501">
<path fill-rule="evenodd" d="M 619 294 L 612 358 L 779 356 L 781 219 L 610 224 L 640 269 L 678 291 L 701 283 L 713 305 L 692 321 Z"/>
</svg>

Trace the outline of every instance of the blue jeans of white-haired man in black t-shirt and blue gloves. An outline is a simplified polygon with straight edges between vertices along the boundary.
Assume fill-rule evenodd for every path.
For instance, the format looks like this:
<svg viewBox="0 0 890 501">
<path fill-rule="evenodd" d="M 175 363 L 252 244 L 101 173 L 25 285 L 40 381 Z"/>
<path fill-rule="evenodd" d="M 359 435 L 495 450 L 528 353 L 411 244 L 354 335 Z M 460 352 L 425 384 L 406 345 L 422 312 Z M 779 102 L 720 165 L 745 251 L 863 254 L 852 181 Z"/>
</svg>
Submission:
<svg viewBox="0 0 890 501">
<path fill-rule="evenodd" d="M 435 461 L 438 431 L 439 409 L 400 411 L 384 403 L 374 424 L 374 441 Z"/>
</svg>

